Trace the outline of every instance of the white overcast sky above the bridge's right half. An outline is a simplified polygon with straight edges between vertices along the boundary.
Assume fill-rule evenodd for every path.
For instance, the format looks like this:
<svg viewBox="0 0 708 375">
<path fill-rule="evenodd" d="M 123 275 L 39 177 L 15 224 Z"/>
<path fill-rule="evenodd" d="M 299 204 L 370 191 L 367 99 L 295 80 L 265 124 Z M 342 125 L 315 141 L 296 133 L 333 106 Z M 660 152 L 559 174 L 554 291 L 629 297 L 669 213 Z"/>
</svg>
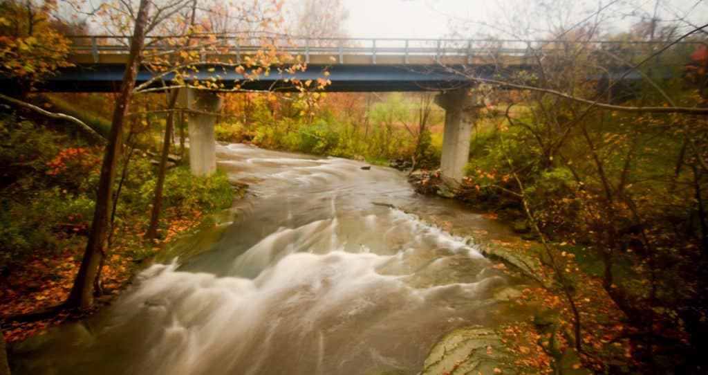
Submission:
<svg viewBox="0 0 708 375">
<path fill-rule="evenodd" d="M 632 5 L 627 4 L 628 1 Z M 656 0 L 545 0 L 552 5 L 547 12 L 535 13 L 529 0 L 341 0 L 348 9 L 346 27 L 350 36 L 358 38 L 440 38 L 455 30 L 464 30 L 465 36 L 499 35 L 481 23 L 501 26 L 520 25 L 547 29 L 543 18 L 550 18 L 554 24 L 573 24 L 586 18 L 598 6 L 610 6 L 605 11 L 608 18 L 605 30 L 617 32 L 627 30 L 632 23 L 653 13 Z M 636 11 L 639 7 L 640 11 Z M 537 10 L 537 8 L 536 8 Z M 554 11 L 556 12 L 555 14 Z M 634 11 L 634 14 L 632 14 Z M 661 0 L 658 13 L 670 20 L 686 16 L 695 25 L 708 23 L 708 1 Z M 524 19 L 525 18 L 525 19 Z M 463 21 L 475 21 L 464 23 Z M 494 22 L 497 20 L 497 22 Z M 485 35 L 486 34 L 486 35 Z"/>
</svg>

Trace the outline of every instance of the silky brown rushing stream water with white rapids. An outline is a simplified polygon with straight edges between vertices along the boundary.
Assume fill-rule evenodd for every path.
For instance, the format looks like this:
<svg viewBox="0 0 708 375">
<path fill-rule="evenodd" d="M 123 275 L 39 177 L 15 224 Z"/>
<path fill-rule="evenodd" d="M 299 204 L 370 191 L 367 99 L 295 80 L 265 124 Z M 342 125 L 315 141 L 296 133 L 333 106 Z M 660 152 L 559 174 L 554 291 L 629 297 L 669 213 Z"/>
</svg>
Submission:
<svg viewBox="0 0 708 375">
<path fill-rule="evenodd" d="M 225 223 L 166 250 L 113 306 L 13 350 L 16 374 L 414 374 L 460 325 L 513 315 L 513 284 L 402 211 L 502 231 L 405 175 L 346 159 L 217 147 L 250 184 Z"/>
</svg>

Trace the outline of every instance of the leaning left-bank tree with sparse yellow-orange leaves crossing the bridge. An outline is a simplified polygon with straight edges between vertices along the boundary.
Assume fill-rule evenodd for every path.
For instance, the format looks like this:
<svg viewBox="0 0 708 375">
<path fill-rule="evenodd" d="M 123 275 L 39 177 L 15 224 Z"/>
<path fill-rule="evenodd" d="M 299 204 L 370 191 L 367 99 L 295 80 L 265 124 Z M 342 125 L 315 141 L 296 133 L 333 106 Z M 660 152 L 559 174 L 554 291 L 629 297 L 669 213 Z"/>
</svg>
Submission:
<svg viewBox="0 0 708 375">
<path fill-rule="evenodd" d="M 153 15 L 148 17 L 147 13 L 151 8 Z M 91 306 L 95 292 L 93 285 L 100 284 L 96 278 L 101 274 L 101 259 L 105 257 L 107 251 L 105 240 L 110 224 L 108 222 L 110 197 L 113 194 L 115 164 L 120 155 L 122 124 L 130 105 L 130 98 L 137 94 L 176 89 L 212 92 L 244 91 L 242 89 L 244 83 L 259 79 L 261 75 L 270 74 L 271 69 L 278 69 L 279 74 L 286 75 L 307 68 L 306 63 L 280 51 L 278 48 L 287 44 L 273 34 L 267 33 L 268 28 L 280 22 L 277 17 L 280 9 L 279 1 L 244 2 L 229 8 L 228 12 L 221 11 L 220 7 L 214 9 L 219 12 L 218 16 L 210 18 L 208 15 L 213 9 L 208 3 L 200 4 L 194 0 L 171 2 L 146 0 L 140 1 L 137 11 L 132 9 L 132 4 L 121 2 L 103 4 L 89 12 L 98 15 L 99 19 L 105 22 L 107 30 L 113 33 L 125 33 L 128 29 L 127 25 L 135 26 L 129 43 L 129 63 L 122 82 L 120 99 L 116 105 L 103 162 L 89 242 L 68 300 L 72 306 L 81 308 Z M 233 33 L 229 35 L 204 33 L 204 30 L 215 29 L 215 25 L 210 23 L 215 19 L 219 20 L 219 27 L 224 25 L 234 27 Z M 190 21 L 185 22 L 185 20 Z M 239 33 L 241 30 L 245 31 Z M 151 38 L 149 33 L 158 33 L 159 36 Z M 219 36 L 229 38 L 219 38 Z M 254 42 L 256 45 L 253 45 Z M 229 51 L 234 50 L 234 47 L 238 47 L 241 43 L 256 47 L 256 51 L 242 55 L 241 60 L 234 61 Z M 153 77 L 135 86 L 135 74 L 141 59 L 146 68 L 153 72 Z M 222 77 L 219 77 L 218 71 L 221 69 L 234 69 L 244 78 L 237 79 L 234 87 L 229 88 L 224 84 Z M 200 70 L 206 70 L 210 74 L 201 77 Z M 300 89 L 303 96 L 314 96 L 315 90 L 329 84 L 329 81 L 321 78 L 316 82 L 309 80 L 301 82 L 298 79 L 285 79 L 285 81 Z M 169 106 L 172 106 L 174 101 L 176 96 L 171 97 L 169 103 L 172 104 Z M 166 111 L 169 116 L 162 152 L 164 162 L 166 152 L 169 152 L 174 109 L 168 108 Z M 159 171 L 159 179 L 162 181 L 164 181 L 164 173 L 163 165 Z M 161 201 L 162 183 L 160 182 L 156 189 L 156 204 L 152 214 L 155 218 L 153 224 L 155 229 L 156 218 L 159 218 L 160 204 L 157 202 Z"/>
</svg>

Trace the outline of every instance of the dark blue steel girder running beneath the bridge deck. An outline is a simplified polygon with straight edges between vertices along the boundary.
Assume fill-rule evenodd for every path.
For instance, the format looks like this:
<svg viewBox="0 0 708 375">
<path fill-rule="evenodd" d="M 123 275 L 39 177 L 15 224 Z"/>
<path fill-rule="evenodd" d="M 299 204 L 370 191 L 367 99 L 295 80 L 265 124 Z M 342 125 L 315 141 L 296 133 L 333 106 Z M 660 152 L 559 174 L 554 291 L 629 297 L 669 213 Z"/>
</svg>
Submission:
<svg viewBox="0 0 708 375">
<path fill-rule="evenodd" d="M 326 91 L 331 92 L 357 92 L 357 91 L 440 91 L 472 84 L 469 77 L 504 78 L 521 70 L 530 70 L 530 67 L 513 66 L 503 70 L 496 70 L 491 66 L 463 67 L 442 65 L 308 65 L 305 72 L 289 74 L 278 72 L 277 67 L 270 69 L 270 74 L 261 74 L 258 79 L 244 79 L 243 74 L 233 68 L 225 69 L 219 65 L 212 66 L 214 72 L 208 72 L 210 67 L 200 67 L 195 74 L 198 79 L 209 79 L 218 75 L 218 83 L 224 84 L 225 89 L 232 89 L 240 84 L 242 89 L 295 91 L 292 83 L 286 79 L 297 78 L 302 81 L 316 80 L 318 77 L 329 79 L 331 84 Z M 77 65 L 62 69 L 59 74 L 50 77 L 45 82 L 38 84 L 40 91 L 52 92 L 113 92 L 118 91 L 123 76 L 125 65 L 120 64 L 87 64 Z M 325 76 L 324 71 L 329 72 Z M 152 79 L 154 73 L 141 69 L 137 76 L 137 84 Z M 165 77 L 166 82 L 173 78 L 173 74 Z M 5 86 L 9 82 L 0 84 Z M 155 88 L 161 86 L 157 82 Z"/>
</svg>

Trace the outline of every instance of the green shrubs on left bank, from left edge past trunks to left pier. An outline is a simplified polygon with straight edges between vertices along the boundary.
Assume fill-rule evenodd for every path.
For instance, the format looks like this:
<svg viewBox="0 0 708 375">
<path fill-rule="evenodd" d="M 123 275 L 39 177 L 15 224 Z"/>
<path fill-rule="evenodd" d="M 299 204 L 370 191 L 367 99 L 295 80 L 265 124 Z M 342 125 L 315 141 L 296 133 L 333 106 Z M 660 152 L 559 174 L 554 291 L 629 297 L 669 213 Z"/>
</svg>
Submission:
<svg viewBox="0 0 708 375">
<path fill-rule="evenodd" d="M 0 136 L 0 273 L 28 257 L 84 247 L 103 150 L 30 121 L 16 121 L 8 113 L 0 114 Z M 147 226 L 156 183 L 150 159 L 145 152 L 133 153 L 122 181 L 117 225 Z M 116 188 L 121 169 L 122 163 Z M 229 206 L 233 195 L 225 172 L 194 177 L 185 163 L 166 174 L 164 217 L 212 212 Z"/>
</svg>

